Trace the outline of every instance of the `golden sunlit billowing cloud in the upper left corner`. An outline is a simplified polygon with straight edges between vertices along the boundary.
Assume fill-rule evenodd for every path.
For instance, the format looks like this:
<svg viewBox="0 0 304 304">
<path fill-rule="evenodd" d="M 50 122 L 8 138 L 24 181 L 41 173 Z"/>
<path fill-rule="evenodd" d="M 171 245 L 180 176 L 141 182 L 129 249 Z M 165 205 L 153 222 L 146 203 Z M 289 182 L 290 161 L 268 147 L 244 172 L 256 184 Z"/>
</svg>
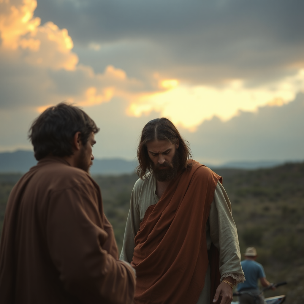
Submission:
<svg viewBox="0 0 304 304">
<path fill-rule="evenodd" d="M 2 1 L 1 48 L 28 50 L 22 55 L 25 62 L 31 65 L 54 70 L 75 70 L 78 56 L 71 52 L 73 41 L 67 29 L 59 29 L 53 22 L 40 26 L 40 18 L 33 18 L 36 7 L 36 0 L 23 0 L 19 5 Z"/>
</svg>

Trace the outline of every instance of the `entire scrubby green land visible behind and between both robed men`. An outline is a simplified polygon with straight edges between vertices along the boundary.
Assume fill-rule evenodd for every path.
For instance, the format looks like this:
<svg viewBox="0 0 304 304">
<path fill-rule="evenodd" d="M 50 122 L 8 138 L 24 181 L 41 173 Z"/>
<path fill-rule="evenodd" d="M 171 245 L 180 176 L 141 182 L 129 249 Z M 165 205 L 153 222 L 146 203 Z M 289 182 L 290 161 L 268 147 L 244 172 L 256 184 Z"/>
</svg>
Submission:
<svg viewBox="0 0 304 304">
<path fill-rule="evenodd" d="M 271 282 L 288 285 L 266 296 L 287 294 L 286 303 L 304 302 L 304 163 L 271 169 L 214 169 L 232 203 L 239 234 L 240 251 L 257 248 L 258 259 Z M 0 221 L 9 192 L 18 174 L 0 174 Z M 107 217 L 112 223 L 119 249 L 136 174 L 94 176 L 100 185 Z M 2 223 L 0 223 L 2 226 Z"/>
</svg>

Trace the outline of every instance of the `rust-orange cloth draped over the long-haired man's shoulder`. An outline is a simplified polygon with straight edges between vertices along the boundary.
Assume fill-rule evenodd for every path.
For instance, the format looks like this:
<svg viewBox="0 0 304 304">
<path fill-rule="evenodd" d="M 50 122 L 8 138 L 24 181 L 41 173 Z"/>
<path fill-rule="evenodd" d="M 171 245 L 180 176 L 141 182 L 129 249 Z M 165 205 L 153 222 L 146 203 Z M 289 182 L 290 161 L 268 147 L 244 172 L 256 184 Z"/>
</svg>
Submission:
<svg viewBox="0 0 304 304">
<path fill-rule="evenodd" d="M 202 292 L 209 263 L 205 227 L 222 178 L 196 161 L 192 165 L 178 173 L 157 204 L 148 207 L 140 224 L 131 262 L 137 275 L 136 304 L 195 304 Z M 211 274 L 216 274 L 211 282 L 213 299 L 219 260 L 216 254 L 209 256 L 216 260 L 210 261 Z"/>
</svg>

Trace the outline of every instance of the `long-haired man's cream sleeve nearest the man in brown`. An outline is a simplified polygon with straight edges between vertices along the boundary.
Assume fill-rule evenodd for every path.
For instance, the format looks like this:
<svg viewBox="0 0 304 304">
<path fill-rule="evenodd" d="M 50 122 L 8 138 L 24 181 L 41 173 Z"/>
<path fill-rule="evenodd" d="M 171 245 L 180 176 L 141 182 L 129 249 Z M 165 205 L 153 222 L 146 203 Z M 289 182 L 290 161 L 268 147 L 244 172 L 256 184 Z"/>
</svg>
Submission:
<svg viewBox="0 0 304 304">
<path fill-rule="evenodd" d="M 140 210 L 134 187 L 130 199 L 130 210 L 126 222 L 125 234 L 123 237 L 123 248 L 119 257 L 120 260 L 131 263 L 135 248 L 134 238 L 139 230 L 140 222 Z"/>
</svg>

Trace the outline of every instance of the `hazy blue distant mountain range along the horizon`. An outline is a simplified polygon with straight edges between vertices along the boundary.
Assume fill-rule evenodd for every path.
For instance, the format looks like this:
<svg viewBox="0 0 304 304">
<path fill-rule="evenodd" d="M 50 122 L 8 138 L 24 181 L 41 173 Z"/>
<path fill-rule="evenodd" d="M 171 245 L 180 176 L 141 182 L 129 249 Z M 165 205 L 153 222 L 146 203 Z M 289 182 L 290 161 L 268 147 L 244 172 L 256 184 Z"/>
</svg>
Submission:
<svg viewBox="0 0 304 304">
<path fill-rule="evenodd" d="M 1 173 L 25 173 L 37 163 L 33 151 L 18 150 L 15 152 L 0 153 Z M 257 169 L 271 168 L 283 164 L 280 161 L 240 161 L 227 162 L 221 165 L 206 164 L 210 168 Z M 91 167 L 92 174 L 119 175 L 134 172 L 137 161 L 126 161 L 120 158 L 95 159 Z"/>
</svg>

